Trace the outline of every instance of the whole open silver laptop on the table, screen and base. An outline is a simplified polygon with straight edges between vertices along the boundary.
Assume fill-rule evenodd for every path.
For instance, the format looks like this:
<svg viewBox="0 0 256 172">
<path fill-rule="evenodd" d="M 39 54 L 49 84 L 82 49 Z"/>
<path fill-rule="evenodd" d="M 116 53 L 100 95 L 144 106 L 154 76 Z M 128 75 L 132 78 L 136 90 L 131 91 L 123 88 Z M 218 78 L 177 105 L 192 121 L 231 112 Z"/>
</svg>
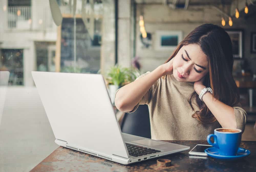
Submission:
<svg viewBox="0 0 256 172">
<path fill-rule="evenodd" d="M 101 74 L 32 72 L 55 142 L 131 164 L 190 149 L 122 133 Z"/>
</svg>

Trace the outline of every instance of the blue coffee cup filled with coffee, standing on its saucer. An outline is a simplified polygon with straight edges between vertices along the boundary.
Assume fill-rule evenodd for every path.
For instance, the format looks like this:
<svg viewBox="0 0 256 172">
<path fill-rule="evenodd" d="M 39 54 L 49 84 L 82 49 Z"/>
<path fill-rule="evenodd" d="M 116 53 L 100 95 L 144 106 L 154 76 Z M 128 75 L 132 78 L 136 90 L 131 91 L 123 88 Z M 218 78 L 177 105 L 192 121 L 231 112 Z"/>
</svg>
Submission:
<svg viewBox="0 0 256 172">
<path fill-rule="evenodd" d="M 210 138 L 214 138 L 212 143 Z M 219 149 L 220 155 L 235 156 L 241 143 L 242 130 L 236 128 L 217 128 L 207 136 L 210 145 Z"/>
</svg>

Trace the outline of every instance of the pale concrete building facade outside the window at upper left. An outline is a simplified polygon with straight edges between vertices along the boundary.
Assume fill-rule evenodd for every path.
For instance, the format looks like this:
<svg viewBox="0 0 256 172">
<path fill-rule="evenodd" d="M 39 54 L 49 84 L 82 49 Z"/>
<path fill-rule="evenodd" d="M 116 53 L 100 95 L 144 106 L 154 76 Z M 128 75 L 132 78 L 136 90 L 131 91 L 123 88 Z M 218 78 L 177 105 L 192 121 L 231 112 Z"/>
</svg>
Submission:
<svg viewBox="0 0 256 172">
<path fill-rule="evenodd" d="M 31 71 L 36 69 L 36 56 L 34 41 L 56 41 L 57 28 L 55 25 L 51 30 L 43 30 L 44 24 L 39 24 L 39 19 L 45 19 L 45 14 L 49 10 L 49 1 L 32 0 L 31 1 L 31 30 L 8 29 L 7 10 L 3 11 L 3 6 L 7 4 L 7 0 L 1 1 L 0 8 L 0 42 L 2 49 L 24 49 L 24 86 L 33 86 L 33 78 Z M 46 20 L 43 20 L 45 22 Z"/>
</svg>

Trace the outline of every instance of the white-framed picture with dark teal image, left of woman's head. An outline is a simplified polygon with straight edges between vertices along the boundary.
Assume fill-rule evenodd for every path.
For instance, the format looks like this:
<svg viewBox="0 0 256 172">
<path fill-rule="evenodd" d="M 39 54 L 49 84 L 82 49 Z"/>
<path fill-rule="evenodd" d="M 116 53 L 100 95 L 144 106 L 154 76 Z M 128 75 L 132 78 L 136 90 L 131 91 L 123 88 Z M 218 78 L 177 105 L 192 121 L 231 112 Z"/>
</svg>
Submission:
<svg viewBox="0 0 256 172">
<path fill-rule="evenodd" d="M 172 51 L 182 41 L 182 31 L 156 31 L 155 49 Z"/>
</svg>

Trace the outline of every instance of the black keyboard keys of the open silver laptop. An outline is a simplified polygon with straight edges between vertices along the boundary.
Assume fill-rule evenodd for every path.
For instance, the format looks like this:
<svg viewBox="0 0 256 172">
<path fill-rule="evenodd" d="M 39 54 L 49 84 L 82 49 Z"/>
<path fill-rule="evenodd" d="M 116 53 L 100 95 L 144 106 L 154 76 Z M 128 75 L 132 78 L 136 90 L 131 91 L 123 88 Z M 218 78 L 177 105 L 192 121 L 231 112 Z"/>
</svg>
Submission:
<svg viewBox="0 0 256 172">
<path fill-rule="evenodd" d="M 137 156 L 152 154 L 152 153 L 156 153 L 156 152 L 161 152 L 159 150 L 146 148 L 146 147 L 142 147 L 142 146 L 138 146 L 138 145 L 134 145 L 134 144 L 130 144 L 130 143 L 125 143 L 125 144 L 126 144 L 128 153 L 131 156 L 137 157 Z"/>
</svg>

